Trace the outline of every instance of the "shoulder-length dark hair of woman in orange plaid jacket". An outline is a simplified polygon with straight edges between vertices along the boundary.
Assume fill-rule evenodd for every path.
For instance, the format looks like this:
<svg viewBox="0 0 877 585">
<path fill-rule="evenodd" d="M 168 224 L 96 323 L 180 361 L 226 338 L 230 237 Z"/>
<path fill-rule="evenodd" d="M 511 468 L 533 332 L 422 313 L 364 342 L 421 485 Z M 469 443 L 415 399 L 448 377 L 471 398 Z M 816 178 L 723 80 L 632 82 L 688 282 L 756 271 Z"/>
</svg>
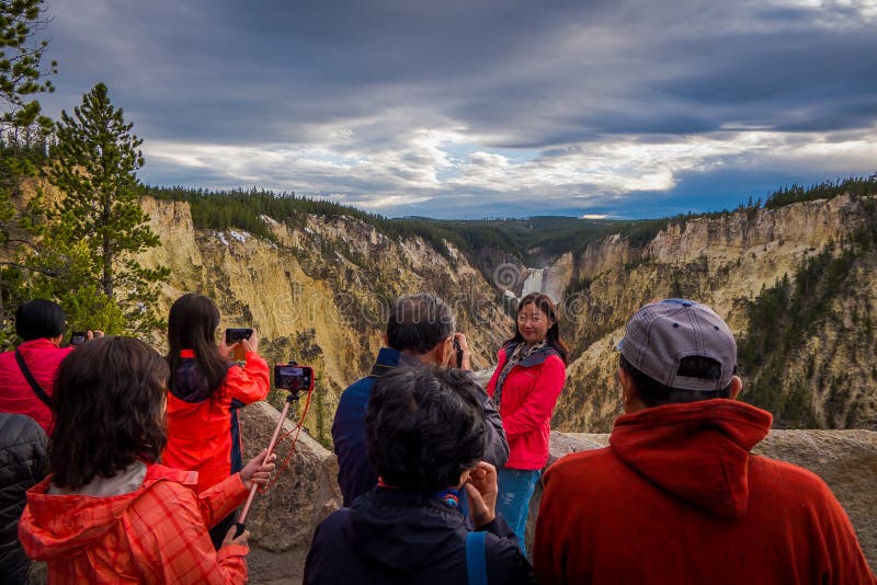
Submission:
<svg viewBox="0 0 877 585">
<path fill-rule="evenodd" d="M 53 392 L 49 467 L 59 487 L 77 490 L 164 449 L 168 364 L 139 340 L 101 337 L 71 352 Z"/>
</svg>

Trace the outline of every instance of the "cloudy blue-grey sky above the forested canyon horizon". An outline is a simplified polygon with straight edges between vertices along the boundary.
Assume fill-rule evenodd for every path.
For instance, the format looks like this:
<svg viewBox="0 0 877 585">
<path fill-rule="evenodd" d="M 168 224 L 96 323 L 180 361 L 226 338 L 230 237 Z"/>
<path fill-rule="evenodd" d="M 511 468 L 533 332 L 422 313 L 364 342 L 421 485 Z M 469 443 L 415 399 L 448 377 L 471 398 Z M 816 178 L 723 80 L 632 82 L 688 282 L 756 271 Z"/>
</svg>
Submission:
<svg viewBox="0 0 877 585">
<path fill-rule="evenodd" d="M 150 185 L 662 217 L 877 172 L 877 0 L 46 0 Z"/>
</svg>

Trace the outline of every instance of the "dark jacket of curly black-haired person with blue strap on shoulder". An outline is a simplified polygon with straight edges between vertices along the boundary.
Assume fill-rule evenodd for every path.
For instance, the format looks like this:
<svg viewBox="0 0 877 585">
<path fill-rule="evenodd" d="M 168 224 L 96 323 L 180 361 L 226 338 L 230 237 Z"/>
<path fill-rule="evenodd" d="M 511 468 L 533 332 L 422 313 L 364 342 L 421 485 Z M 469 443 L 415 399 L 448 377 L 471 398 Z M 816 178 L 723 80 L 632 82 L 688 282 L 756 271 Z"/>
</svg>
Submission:
<svg viewBox="0 0 877 585">
<path fill-rule="evenodd" d="M 534 583 L 502 516 L 482 529 L 488 582 Z M 317 527 L 304 583 L 465 585 L 467 534 L 459 511 L 437 497 L 376 487 Z"/>
</svg>

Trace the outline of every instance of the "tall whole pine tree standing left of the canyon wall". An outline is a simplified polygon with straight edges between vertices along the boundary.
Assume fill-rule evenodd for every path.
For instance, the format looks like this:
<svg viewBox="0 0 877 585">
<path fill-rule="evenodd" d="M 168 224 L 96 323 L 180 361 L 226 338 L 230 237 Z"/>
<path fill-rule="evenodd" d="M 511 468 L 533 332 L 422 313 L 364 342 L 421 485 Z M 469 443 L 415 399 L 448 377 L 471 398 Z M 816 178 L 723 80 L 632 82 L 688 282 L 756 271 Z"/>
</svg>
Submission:
<svg viewBox="0 0 877 585">
<path fill-rule="evenodd" d="M 132 127 L 103 83 L 82 96 L 72 115 L 61 112 L 48 177 L 64 197 L 52 214 L 50 248 L 71 259 L 78 273 L 78 282 L 65 277 L 56 296 L 98 302 L 106 321 L 100 324 L 111 332 L 146 333 L 160 325 L 152 309 L 170 271 L 146 268 L 135 257 L 159 239 L 138 202 L 143 140 Z"/>
</svg>

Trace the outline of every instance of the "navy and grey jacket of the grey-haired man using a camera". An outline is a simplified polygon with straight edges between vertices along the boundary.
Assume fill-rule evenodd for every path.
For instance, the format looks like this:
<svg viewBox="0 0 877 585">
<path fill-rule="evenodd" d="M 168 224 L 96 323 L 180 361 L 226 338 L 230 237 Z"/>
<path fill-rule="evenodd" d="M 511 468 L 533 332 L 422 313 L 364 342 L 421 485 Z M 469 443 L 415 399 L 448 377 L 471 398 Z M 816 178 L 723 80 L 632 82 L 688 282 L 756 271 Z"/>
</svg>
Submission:
<svg viewBox="0 0 877 585">
<path fill-rule="evenodd" d="M 332 441 L 338 456 L 338 484 L 341 486 L 344 505 L 348 507 L 353 504 L 356 496 L 368 492 L 377 484 L 377 473 L 368 461 L 365 409 L 368 406 L 372 388 L 377 378 L 388 369 L 399 366 L 419 367 L 420 362 L 396 349 L 381 347 L 372 374 L 349 386 L 338 401 L 332 423 Z M 509 444 L 502 429 L 502 418 L 483 390 L 480 390 L 479 399 L 487 418 L 485 461 L 499 469 L 509 459 Z"/>
</svg>

